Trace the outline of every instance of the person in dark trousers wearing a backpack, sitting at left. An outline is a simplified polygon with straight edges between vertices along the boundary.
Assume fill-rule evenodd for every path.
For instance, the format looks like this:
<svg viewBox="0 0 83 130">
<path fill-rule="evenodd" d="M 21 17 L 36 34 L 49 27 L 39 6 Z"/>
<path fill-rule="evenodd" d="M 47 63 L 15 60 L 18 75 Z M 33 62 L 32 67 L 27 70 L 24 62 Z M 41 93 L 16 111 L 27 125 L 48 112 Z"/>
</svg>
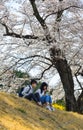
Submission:
<svg viewBox="0 0 83 130">
<path fill-rule="evenodd" d="M 37 81 L 36 80 L 31 80 L 30 85 L 26 86 L 23 91 L 22 91 L 22 95 L 24 98 L 28 99 L 28 100 L 34 100 L 38 105 L 41 105 L 41 103 L 39 102 L 38 98 L 36 97 L 36 95 L 34 94 L 34 89 L 37 86 Z"/>
</svg>

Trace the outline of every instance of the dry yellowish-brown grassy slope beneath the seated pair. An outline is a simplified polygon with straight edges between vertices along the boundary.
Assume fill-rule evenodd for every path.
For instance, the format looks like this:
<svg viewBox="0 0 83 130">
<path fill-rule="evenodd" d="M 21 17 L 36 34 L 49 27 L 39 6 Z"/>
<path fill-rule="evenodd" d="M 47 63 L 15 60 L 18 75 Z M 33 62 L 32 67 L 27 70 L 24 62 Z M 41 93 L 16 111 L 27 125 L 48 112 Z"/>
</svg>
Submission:
<svg viewBox="0 0 83 130">
<path fill-rule="evenodd" d="M 83 130 L 83 116 L 50 112 L 28 100 L 0 93 L 0 130 Z"/>
</svg>

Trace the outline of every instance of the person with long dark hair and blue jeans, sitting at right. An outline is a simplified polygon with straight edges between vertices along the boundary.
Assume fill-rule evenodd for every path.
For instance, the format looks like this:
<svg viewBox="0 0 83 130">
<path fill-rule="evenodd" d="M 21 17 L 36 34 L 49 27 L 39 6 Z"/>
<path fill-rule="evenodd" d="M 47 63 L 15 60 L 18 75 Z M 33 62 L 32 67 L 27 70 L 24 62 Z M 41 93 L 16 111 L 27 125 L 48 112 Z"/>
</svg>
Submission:
<svg viewBox="0 0 83 130">
<path fill-rule="evenodd" d="M 47 91 L 47 87 L 48 84 L 46 82 L 43 82 L 35 94 L 36 97 L 38 96 L 39 102 L 41 102 L 42 105 L 46 105 L 46 109 L 54 111 L 54 108 L 52 107 L 52 98 Z"/>
</svg>

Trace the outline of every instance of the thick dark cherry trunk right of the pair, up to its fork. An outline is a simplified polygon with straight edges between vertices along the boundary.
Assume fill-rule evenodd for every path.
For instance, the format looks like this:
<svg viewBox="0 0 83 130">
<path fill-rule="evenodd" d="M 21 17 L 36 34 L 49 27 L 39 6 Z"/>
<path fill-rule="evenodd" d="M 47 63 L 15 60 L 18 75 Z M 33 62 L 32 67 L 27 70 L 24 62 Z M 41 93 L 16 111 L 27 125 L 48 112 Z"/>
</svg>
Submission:
<svg viewBox="0 0 83 130">
<path fill-rule="evenodd" d="M 56 48 L 52 47 L 50 50 L 50 55 L 63 84 L 65 91 L 66 110 L 78 112 L 78 104 L 74 96 L 74 82 L 71 68 L 67 63 L 67 60 L 65 58 L 61 58 L 60 51 L 60 49 L 56 50 Z"/>
</svg>

